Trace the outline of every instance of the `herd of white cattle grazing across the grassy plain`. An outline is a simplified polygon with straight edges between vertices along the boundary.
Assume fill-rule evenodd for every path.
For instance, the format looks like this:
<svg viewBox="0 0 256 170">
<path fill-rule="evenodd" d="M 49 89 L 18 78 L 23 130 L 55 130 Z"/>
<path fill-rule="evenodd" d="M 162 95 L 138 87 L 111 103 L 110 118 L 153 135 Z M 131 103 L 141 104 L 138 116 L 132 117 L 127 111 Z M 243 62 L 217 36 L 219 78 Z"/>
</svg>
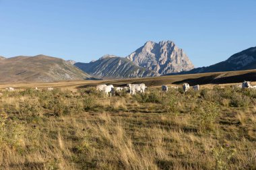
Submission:
<svg viewBox="0 0 256 170">
<path fill-rule="evenodd" d="M 194 85 L 192 86 L 193 90 L 195 91 L 199 91 L 200 90 L 200 86 L 199 85 Z M 238 88 L 249 88 L 249 89 L 256 89 L 256 85 L 251 85 L 250 81 L 244 81 L 241 85 L 237 85 L 236 87 Z M 140 83 L 140 84 L 128 84 L 125 87 L 114 87 L 113 85 L 97 85 L 96 86 L 96 90 L 97 91 L 103 91 L 106 95 L 108 95 L 108 93 L 110 93 L 110 97 L 111 95 L 117 91 L 129 91 L 129 93 L 131 95 L 135 95 L 136 92 L 140 92 L 140 93 L 145 93 L 145 89 L 146 89 L 146 85 L 144 83 Z M 171 86 L 171 88 L 174 89 L 178 89 L 178 86 Z M 183 91 L 187 92 L 189 90 L 190 86 L 189 83 L 184 83 L 183 84 Z M 38 90 L 38 88 L 35 88 L 36 90 Z M 7 91 L 14 91 L 15 89 L 13 87 L 7 87 L 5 88 L 5 90 Z M 52 91 L 53 87 L 48 87 L 47 88 L 48 91 Z M 162 85 L 162 91 L 163 92 L 168 92 L 168 86 L 167 85 Z M 0 94 L 1 95 L 1 94 Z"/>
</svg>

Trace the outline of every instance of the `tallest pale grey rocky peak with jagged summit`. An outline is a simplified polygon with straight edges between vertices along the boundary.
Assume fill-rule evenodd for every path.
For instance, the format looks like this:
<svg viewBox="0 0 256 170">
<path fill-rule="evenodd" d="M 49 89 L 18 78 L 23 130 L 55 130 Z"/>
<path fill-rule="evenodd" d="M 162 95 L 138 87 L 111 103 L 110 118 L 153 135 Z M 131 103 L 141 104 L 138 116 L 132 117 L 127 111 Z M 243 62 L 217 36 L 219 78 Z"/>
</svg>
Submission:
<svg viewBox="0 0 256 170">
<path fill-rule="evenodd" d="M 127 56 L 127 59 L 139 67 L 161 75 L 190 71 L 194 68 L 183 49 L 178 48 L 172 41 L 148 41 Z"/>
</svg>

